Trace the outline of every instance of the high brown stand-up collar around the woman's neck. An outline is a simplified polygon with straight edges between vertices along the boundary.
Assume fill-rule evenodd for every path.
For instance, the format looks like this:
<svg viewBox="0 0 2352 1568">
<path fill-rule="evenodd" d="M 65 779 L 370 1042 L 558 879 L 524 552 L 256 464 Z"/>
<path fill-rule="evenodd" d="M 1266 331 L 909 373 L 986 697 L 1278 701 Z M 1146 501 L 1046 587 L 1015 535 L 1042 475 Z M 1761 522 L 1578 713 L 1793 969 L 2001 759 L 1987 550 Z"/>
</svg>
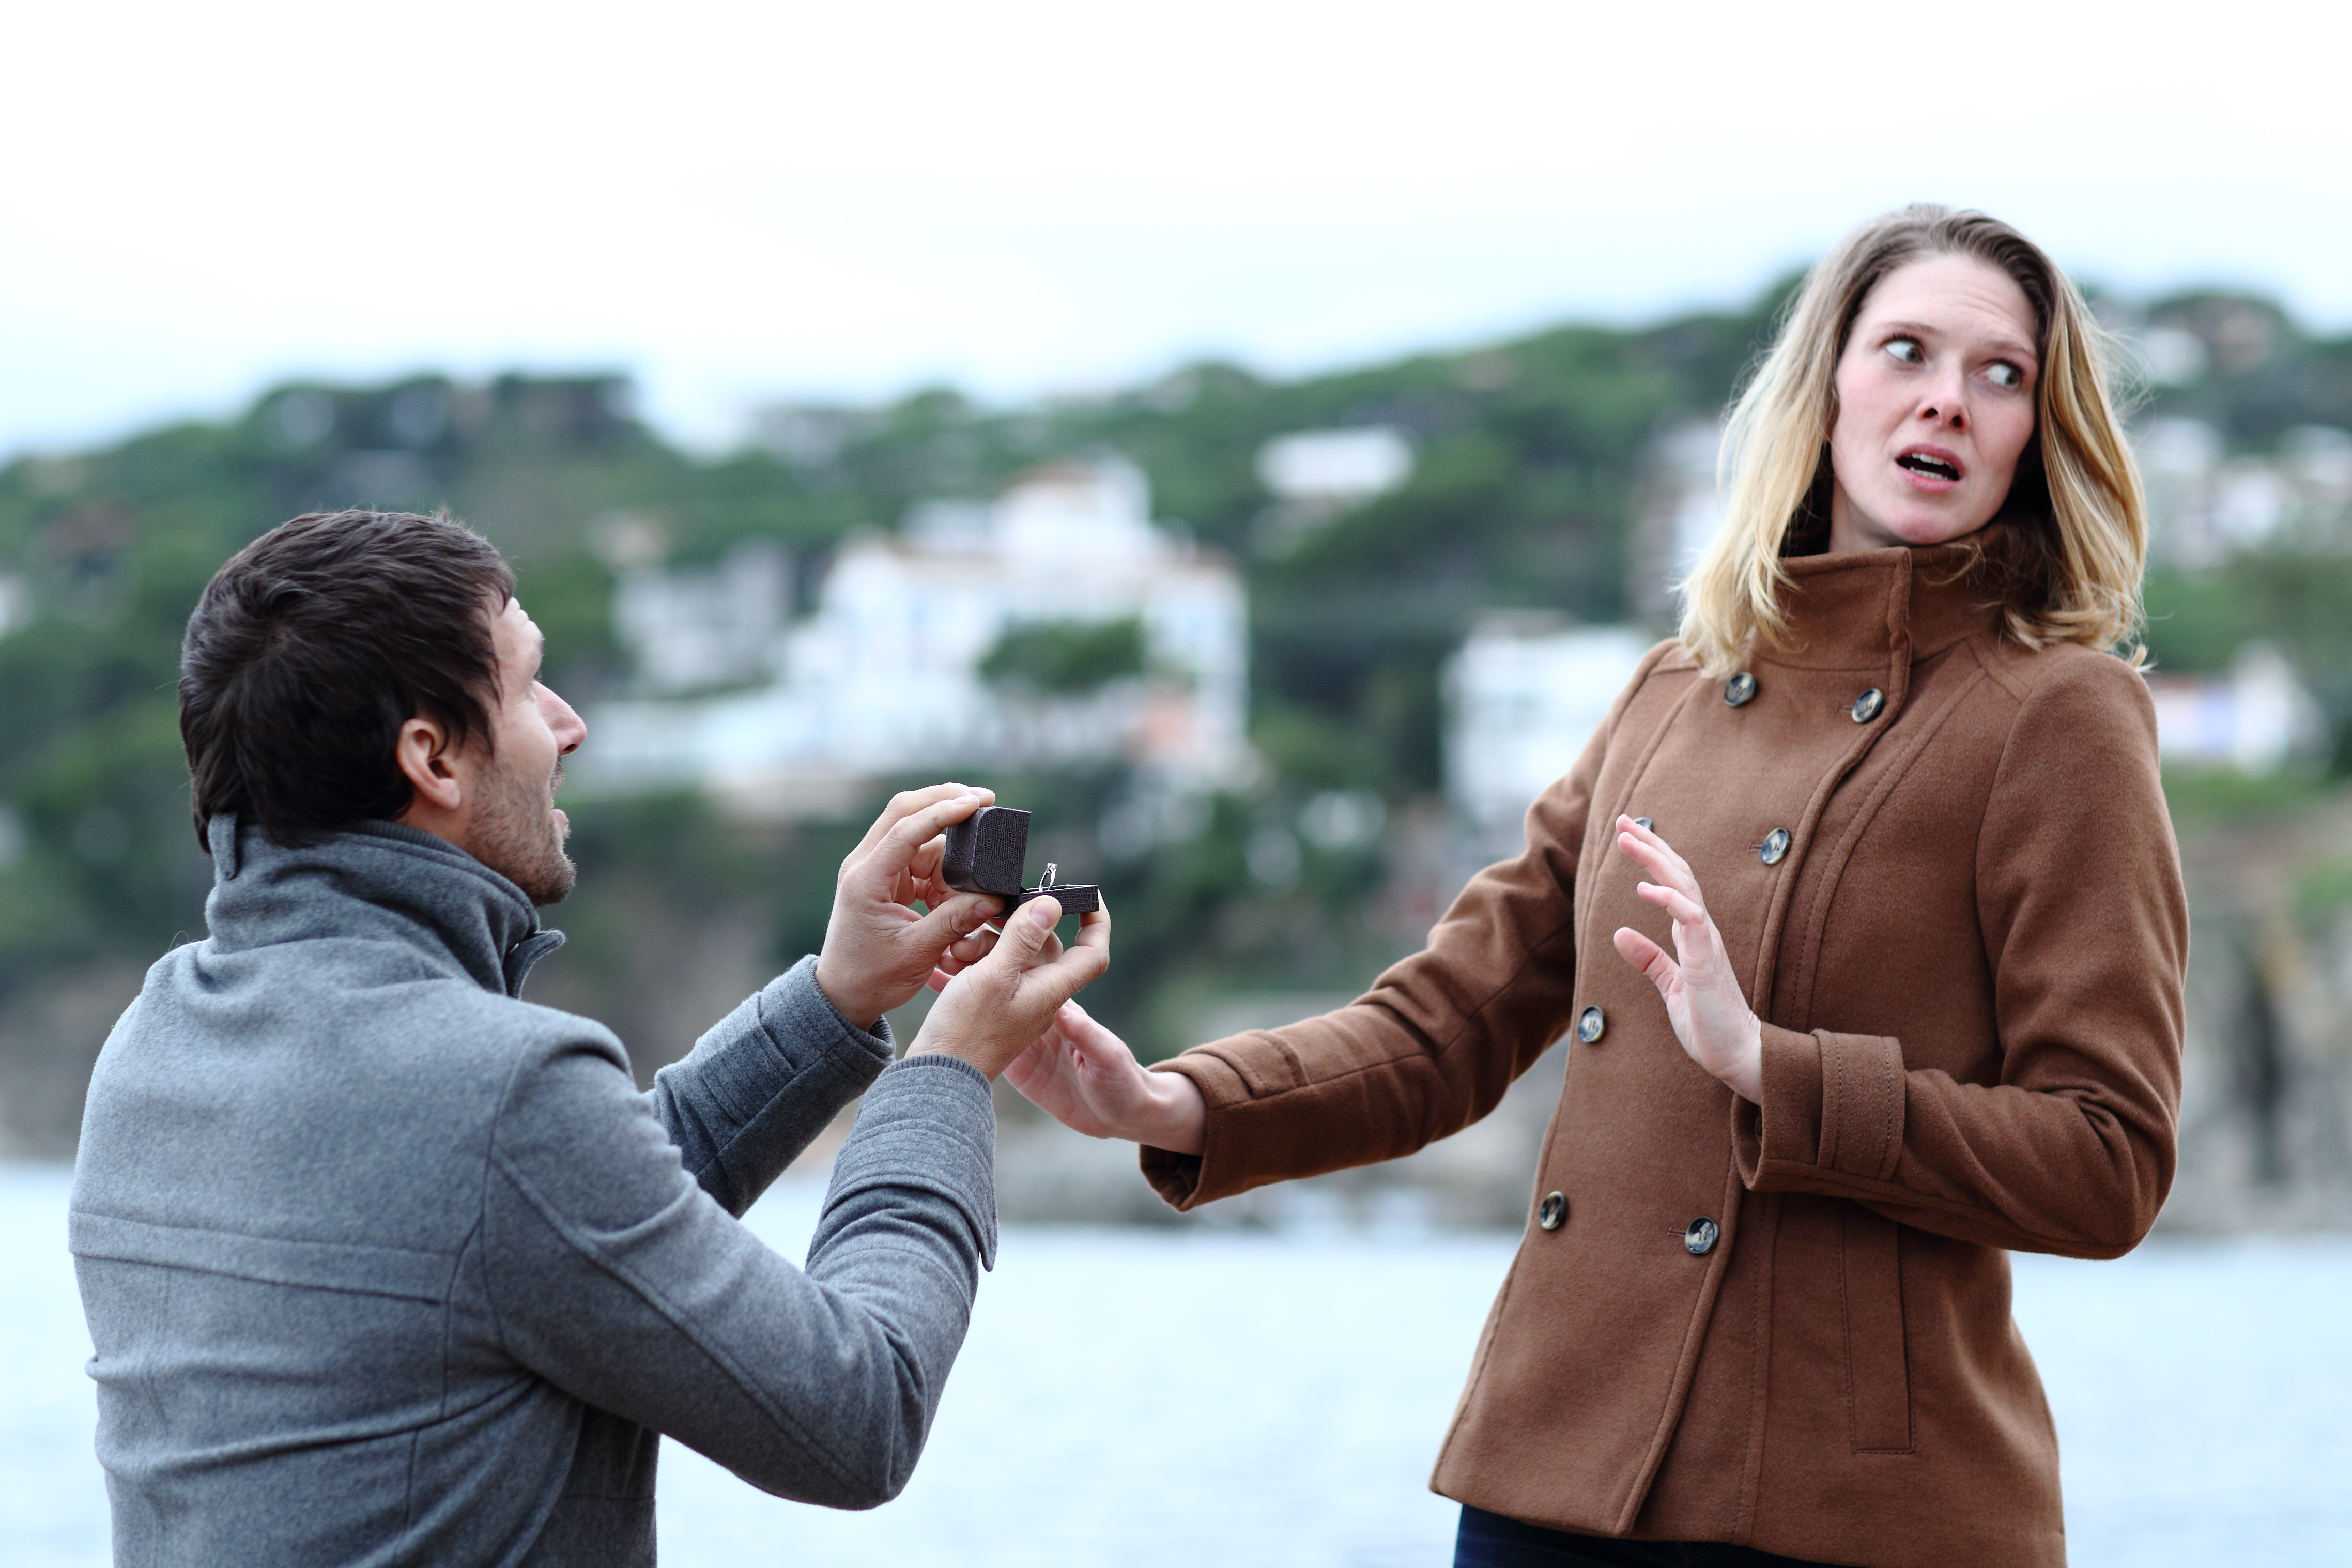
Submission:
<svg viewBox="0 0 2352 1568">
<path fill-rule="evenodd" d="M 1764 663 L 1799 670 L 1884 670 L 1999 628 L 1999 595 L 1976 545 L 1846 550 L 1780 562 L 1790 576 L 1785 646 Z"/>
</svg>

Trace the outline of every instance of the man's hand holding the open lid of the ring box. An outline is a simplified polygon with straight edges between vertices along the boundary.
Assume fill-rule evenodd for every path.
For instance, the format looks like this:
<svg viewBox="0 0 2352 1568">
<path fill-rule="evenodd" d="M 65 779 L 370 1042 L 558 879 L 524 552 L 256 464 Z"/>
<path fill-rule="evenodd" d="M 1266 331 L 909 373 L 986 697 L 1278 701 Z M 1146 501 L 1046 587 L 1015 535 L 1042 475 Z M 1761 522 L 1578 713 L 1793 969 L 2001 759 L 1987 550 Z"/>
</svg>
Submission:
<svg viewBox="0 0 2352 1568">
<path fill-rule="evenodd" d="M 995 898 L 957 893 L 938 879 L 941 835 L 993 799 L 993 790 L 964 785 L 896 795 L 842 860 L 826 950 L 816 954 L 816 987 L 856 1027 L 870 1030 L 882 1013 L 906 1004 L 950 943 L 997 912 Z M 917 903 L 929 914 L 917 914 Z"/>
</svg>

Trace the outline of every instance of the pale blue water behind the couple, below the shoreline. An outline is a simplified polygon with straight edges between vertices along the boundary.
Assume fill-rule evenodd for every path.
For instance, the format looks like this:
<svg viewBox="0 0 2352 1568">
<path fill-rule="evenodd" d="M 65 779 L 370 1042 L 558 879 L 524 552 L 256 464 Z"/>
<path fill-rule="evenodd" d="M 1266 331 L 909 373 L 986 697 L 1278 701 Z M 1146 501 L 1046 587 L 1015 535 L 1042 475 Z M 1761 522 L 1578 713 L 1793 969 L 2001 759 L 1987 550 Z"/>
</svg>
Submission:
<svg viewBox="0 0 2352 1568">
<path fill-rule="evenodd" d="M 800 1255 L 818 1190 L 755 1213 Z M 0 1561 L 106 1561 L 66 1173 L 0 1166 Z M 931 1448 L 873 1514 L 677 1446 L 661 1556 L 1218 1568 L 1446 1563 L 1425 1490 L 1508 1237 L 1011 1229 Z M 2018 1258 L 2079 1568 L 2352 1563 L 2352 1239 Z"/>
</svg>

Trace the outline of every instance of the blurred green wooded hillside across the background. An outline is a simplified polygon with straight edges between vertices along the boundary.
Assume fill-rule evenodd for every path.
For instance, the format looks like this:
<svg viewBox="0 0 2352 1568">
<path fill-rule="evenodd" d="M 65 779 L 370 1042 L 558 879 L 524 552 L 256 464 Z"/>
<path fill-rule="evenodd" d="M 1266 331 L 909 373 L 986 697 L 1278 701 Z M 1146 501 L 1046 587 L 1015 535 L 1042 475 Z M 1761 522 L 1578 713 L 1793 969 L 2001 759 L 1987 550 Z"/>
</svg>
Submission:
<svg viewBox="0 0 2352 1568">
<path fill-rule="evenodd" d="M 1040 463 L 1124 456 L 1162 520 L 1242 571 L 1258 766 L 1143 842 L 1103 830 L 1131 785 L 1117 764 L 983 783 L 1037 813 L 1033 865 L 1105 884 L 1117 964 L 1089 1004 L 1141 1046 L 1176 1048 L 1237 1018 L 1235 999 L 1352 992 L 1418 945 L 1463 875 L 1439 797 L 1446 656 L 1491 611 L 1656 630 L 1653 536 L 1686 484 L 1689 433 L 1712 425 L 1778 299 L 1298 381 L 1192 364 L 1025 407 L 953 390 L 776 407 L 722 458 L 666 447 L 623 376 L 287 386 L 230 423 L 19 458 L 0 470 L 0 1133 L 71 1147 L 106 1023 L 155 954 L 202 931 L 209 860 L 174 719 L 188 607 L 270 524 L 355 503 L 449 505 L 494 538 L 548 632 L 548 679 L 588 703 L 642 691 L 614 625 L 630 559 L 715 569 L 757 541 L 807 609 L 858 531 L 995 496 Z M 2171 520 L 2150 644 L 2178 675 L 2230 670 L 2258 642 L 2284 654 L 2319 733 L 2260 809 L 2300 844 L 2293 823 L 2336 820 L 2333 780 L 2352 769 L 2352 524 L 2333 489 L 2352 339 L 2239 296 L 2105 308 L 2140 343 L 2136 428 Z M 1350 505 L 1287 501 L 1261 458 L 1312 430 L 1392 433 L 1409 475 Z M 612 1023 L 642 1072 L 670 1060 L 816 945 L 863 806 L 748 820 L 694 792 L 581 799 L 581 891 L 555 914 L 572 945 L 534 997 Z M 2237 827 L 2232 811 L 2183 832 L 2201 844 Z M 2279 898 L 2317 931 L 2352 879 L 2303 877 Z M 2272 1046 L 2277 1072 L 2296 1051 Z M 2216 1117 L 2244 1105 L 2230 1091 Z M 2270 1171 L 2249 1159 L 2246 1180 Z"/>
</svg>

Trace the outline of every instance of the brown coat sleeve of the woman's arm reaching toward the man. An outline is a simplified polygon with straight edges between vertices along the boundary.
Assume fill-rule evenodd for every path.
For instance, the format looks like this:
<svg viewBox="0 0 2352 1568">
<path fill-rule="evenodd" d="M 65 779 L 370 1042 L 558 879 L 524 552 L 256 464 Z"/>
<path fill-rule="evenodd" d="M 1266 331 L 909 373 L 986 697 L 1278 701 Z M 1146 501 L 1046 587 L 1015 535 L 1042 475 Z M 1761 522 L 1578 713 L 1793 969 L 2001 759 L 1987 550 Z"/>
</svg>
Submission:
<svg viewBox="0 0 2352 1568">
<path fill-rule="evenodd" d="M 1350 1006 L 1195 1046 L 1160 1063 L 1207 1100 L 1200 1154 L 1143 1150 L 1176 1208 L 1411 1154 L 1501 1100 L 1569 1027 L 1576 860 L 1609 736 L 1658 656 L 1618 693 L 1576 766 L 1526 813 L 1526 851 L 1479 872 L 1425 950 Z"/>
</svg>

